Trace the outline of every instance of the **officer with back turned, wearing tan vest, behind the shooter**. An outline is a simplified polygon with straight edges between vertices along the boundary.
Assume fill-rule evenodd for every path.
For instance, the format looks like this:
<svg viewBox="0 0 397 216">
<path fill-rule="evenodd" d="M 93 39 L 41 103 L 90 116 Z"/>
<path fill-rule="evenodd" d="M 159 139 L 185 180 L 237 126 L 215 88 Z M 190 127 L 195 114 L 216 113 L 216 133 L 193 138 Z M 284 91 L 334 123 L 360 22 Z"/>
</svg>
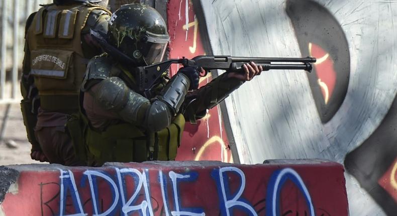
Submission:
<svg viewBox="0 0 397 216">
<path fill-rule="evenodd" d="M 27 20 L 21 110 L 34 160 L 85 164 L 76 157 L 64 126 L 68 115 L 79 111 L 88 60 L 102 53 L 89 30 L 107 32 L 107 2 L 54 0 Z"/>
</svg>

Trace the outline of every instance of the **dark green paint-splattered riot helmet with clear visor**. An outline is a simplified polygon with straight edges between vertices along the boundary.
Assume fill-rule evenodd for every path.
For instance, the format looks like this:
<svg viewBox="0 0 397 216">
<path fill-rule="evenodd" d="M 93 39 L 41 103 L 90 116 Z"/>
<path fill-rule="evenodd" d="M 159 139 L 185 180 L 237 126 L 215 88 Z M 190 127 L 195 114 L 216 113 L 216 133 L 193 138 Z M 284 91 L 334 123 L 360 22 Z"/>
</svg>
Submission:
<svg viewBox="0 0 397 216">
<path fill-rule="evenodd" d="M 145 66 L 162 61 L 169 36 L 164 19 L 154 8 L 129 4 L 113 13 L 107 41 L 132 59 L 134 66 Z"/>
</svg>

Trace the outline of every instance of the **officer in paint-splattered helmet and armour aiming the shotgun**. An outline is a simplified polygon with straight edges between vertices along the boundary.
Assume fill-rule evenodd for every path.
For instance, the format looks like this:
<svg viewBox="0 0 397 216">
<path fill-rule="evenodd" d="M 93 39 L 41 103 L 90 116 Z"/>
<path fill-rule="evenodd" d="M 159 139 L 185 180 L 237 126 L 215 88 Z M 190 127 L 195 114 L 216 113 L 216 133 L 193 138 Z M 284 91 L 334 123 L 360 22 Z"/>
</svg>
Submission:
<svg viewBox="0 0 397 216">
<path fill-rule="evenodd" d="M 197 68 L 184 67 L 170 79 L 163 74 L 146 98 L 133 71 L 163 59 L 169 41 L 166 23 L 155 9 L 130 4 L 112 15 L 108 29 L 98 38 L 106 39 L 107 54 L 89 62 L 81 87 L 80 121 L 86 124 L 68 126 L 73 137 L 82 138 L 76 143 L 84 146 L 80 151 L 89 165 L 175 159 L 185 120 L 203 118 L 207 109 L 262 71 L 252 62 L 244 74 L 223 74 L 197 89 Z"/>
</svg>

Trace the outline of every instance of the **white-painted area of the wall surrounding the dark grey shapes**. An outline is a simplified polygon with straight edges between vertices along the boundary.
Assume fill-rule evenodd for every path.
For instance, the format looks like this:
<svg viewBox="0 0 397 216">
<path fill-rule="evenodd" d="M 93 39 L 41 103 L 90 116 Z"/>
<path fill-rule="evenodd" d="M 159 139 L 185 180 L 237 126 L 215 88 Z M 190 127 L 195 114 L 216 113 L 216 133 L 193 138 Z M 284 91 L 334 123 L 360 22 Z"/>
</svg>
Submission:
<svg viewBox="0 0 397 216">
<path fill-rule="evenodd" d="M 226 99 L 241 163 L 322 158 L 343 163 L 380 124 L 397 88 L 397 4 L 316 0 L 345 32 L 351 71 L 337 114 L 323 125 L 303 71 L 268 71 Z M 301 57 L 284 0 L 201 1 L 214 55 Z M 321 18 L 319 18 L 321 19 Z M 383 211 L 346 174 L 351 215 Z M 365 207 L 363 207 L 365 206 Z"/>
</svg>

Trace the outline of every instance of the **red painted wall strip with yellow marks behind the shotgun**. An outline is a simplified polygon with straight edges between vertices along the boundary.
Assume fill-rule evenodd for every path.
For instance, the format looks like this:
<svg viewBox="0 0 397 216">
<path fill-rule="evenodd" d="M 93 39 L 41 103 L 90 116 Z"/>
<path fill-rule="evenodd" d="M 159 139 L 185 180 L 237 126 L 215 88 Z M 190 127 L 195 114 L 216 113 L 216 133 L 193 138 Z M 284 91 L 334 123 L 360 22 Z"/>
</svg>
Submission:
<svg viewBox="0 0 397 216">
<path fill-rule="evenodd" d="M 170 35 L 169 58 L 193 58 L 205 55 L 198 31 L 193 5 L 189 0 L 170 0 L 167 11 L 168 33 Z M 179 66 L 171 67 L 171 74 Z M 212 80 L 211 73 L 200 79 L 200 87 Z M 186 123 L 182 142 L 176 160 L 218 160 L 233 162 L 225 127 L 219 106 L 197 121 L 197 125 Z"/>
</svg>

